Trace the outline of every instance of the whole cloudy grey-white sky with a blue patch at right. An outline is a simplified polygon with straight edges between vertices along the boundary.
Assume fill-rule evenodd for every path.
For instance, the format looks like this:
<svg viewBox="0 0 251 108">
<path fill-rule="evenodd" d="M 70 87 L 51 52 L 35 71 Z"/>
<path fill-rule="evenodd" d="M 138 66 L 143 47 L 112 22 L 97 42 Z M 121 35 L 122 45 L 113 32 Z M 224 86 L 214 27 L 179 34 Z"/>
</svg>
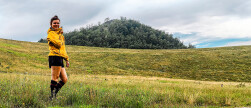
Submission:
<svg viewBox="0 0 251 108">
<path fill-rule="evenodd" d="M 0 0 L 0 38 L 46 38 L 54 15 L 64 32 L 123 16 L 197 48 L 251 45 L 251 0 Z"/>
</svg>

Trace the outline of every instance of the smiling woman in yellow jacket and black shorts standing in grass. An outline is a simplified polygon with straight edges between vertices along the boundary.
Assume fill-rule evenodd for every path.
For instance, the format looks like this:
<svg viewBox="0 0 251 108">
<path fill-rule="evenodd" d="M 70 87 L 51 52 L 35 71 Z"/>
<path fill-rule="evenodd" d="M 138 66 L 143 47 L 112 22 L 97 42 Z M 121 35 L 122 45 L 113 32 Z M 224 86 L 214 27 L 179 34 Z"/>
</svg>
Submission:
<svg viewBox="0 0 251 108">
<path fill-rule="evenodd" d="M 56 98 L 58 91 L 67 82 L 67 75 L 64 68 L 63 59 L 66 61 L 66 67 L 69 67 L 69 57 L 65 50 L 65 40 L 63 36 L 63 29 L 60 27 L 60 19 L 54 16 L 50 21 L 50 28 L 48 30 L 48 44 L 49 44 L 49 67 L 51 68 L 51 96 L 50 99 Z M 60 77 L 61 81 L 58 82 Z"/>
</svg>

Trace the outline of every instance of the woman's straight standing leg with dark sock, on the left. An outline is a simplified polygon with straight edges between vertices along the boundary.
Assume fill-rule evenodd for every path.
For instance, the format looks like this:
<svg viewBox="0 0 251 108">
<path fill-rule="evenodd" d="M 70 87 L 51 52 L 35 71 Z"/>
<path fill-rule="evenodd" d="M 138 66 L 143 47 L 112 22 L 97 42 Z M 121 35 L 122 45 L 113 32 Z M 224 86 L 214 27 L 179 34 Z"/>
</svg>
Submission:
<svg viewBox="0 0 251 108">
<path fill-rule="evenodd" d="M 57 88 L 57 82 L 58 82 L 58 78 L 60 75 L 60 71 L 61 71 L 62 67 L 61 66 L 51 66 L 51 99 L 53 98 L 54 92 L 53 90 L 55 88 Z"/>
</svg>

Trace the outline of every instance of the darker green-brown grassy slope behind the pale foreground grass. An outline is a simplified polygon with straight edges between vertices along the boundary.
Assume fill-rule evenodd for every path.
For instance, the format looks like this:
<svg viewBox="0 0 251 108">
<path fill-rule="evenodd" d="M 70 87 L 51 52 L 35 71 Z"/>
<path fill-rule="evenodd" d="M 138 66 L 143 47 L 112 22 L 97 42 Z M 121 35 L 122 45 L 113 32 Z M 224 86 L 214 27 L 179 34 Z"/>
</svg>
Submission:
<svg viewBox="0 0 251 108">
<path fill-rule="evenodd" d="M 251 82 L 251 47 L 142 50 L 67 45 L 68 74 Z M 50 75 L 46 43 L 0 39 L 0 72 Z"/>
</svg>

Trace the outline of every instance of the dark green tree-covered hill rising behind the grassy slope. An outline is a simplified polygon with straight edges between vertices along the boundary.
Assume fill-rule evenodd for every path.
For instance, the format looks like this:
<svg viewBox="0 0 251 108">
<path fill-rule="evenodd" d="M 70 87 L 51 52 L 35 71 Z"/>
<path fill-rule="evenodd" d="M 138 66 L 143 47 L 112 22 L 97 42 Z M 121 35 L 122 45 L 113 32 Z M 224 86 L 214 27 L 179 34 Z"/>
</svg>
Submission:
<svg viewBox="0 0 251 108">
<path fill-rule="evenodd" d="M 129 49 L 186 49 L 178 38 L 164 31 L 153 29 L 138 21 L 126 19 L 109 20 L 64 34 L 67 45 L 95 46 Z M 41 39 L 39 42 L 45 42 Z"/>
</svg>

